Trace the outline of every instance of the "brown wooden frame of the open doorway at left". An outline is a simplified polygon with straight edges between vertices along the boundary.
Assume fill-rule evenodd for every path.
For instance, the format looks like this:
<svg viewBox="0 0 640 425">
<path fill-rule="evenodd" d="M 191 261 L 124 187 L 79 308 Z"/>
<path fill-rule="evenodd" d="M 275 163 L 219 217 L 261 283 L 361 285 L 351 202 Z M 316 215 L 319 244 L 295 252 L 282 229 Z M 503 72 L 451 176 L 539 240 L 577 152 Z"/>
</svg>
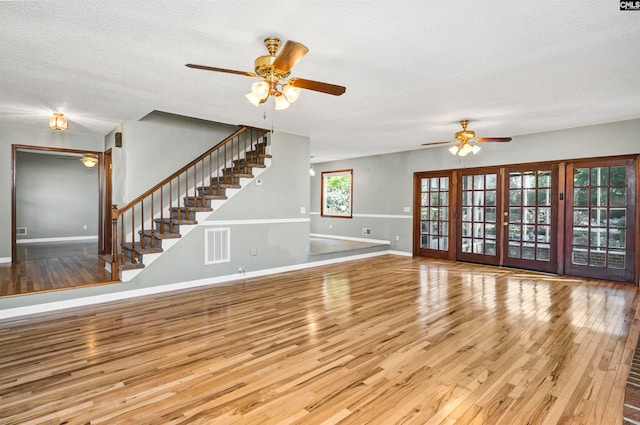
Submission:
<svg viewBox="0 0 640 425">
<path fill-rule="evenodd" d="M 16 226 L 17 226 L 17 206 L 16 206 L 16 173 L 18 166 L 18 151 L 46 151 L 46 152 L 60 152 L 60 153 L 74 153 L 74 154 L 93 154 L 98 157 L 98 250 L 103 251 L 103 154 L 99 151 L 80 150 L 80 149 L 68 149 L 68 148 L 56 148 L 50 146 L 32 146 L 32 145 L 11 145 L 11 262 L 16 263 L 17 249 L 16 249 Z"/>
</svg>

